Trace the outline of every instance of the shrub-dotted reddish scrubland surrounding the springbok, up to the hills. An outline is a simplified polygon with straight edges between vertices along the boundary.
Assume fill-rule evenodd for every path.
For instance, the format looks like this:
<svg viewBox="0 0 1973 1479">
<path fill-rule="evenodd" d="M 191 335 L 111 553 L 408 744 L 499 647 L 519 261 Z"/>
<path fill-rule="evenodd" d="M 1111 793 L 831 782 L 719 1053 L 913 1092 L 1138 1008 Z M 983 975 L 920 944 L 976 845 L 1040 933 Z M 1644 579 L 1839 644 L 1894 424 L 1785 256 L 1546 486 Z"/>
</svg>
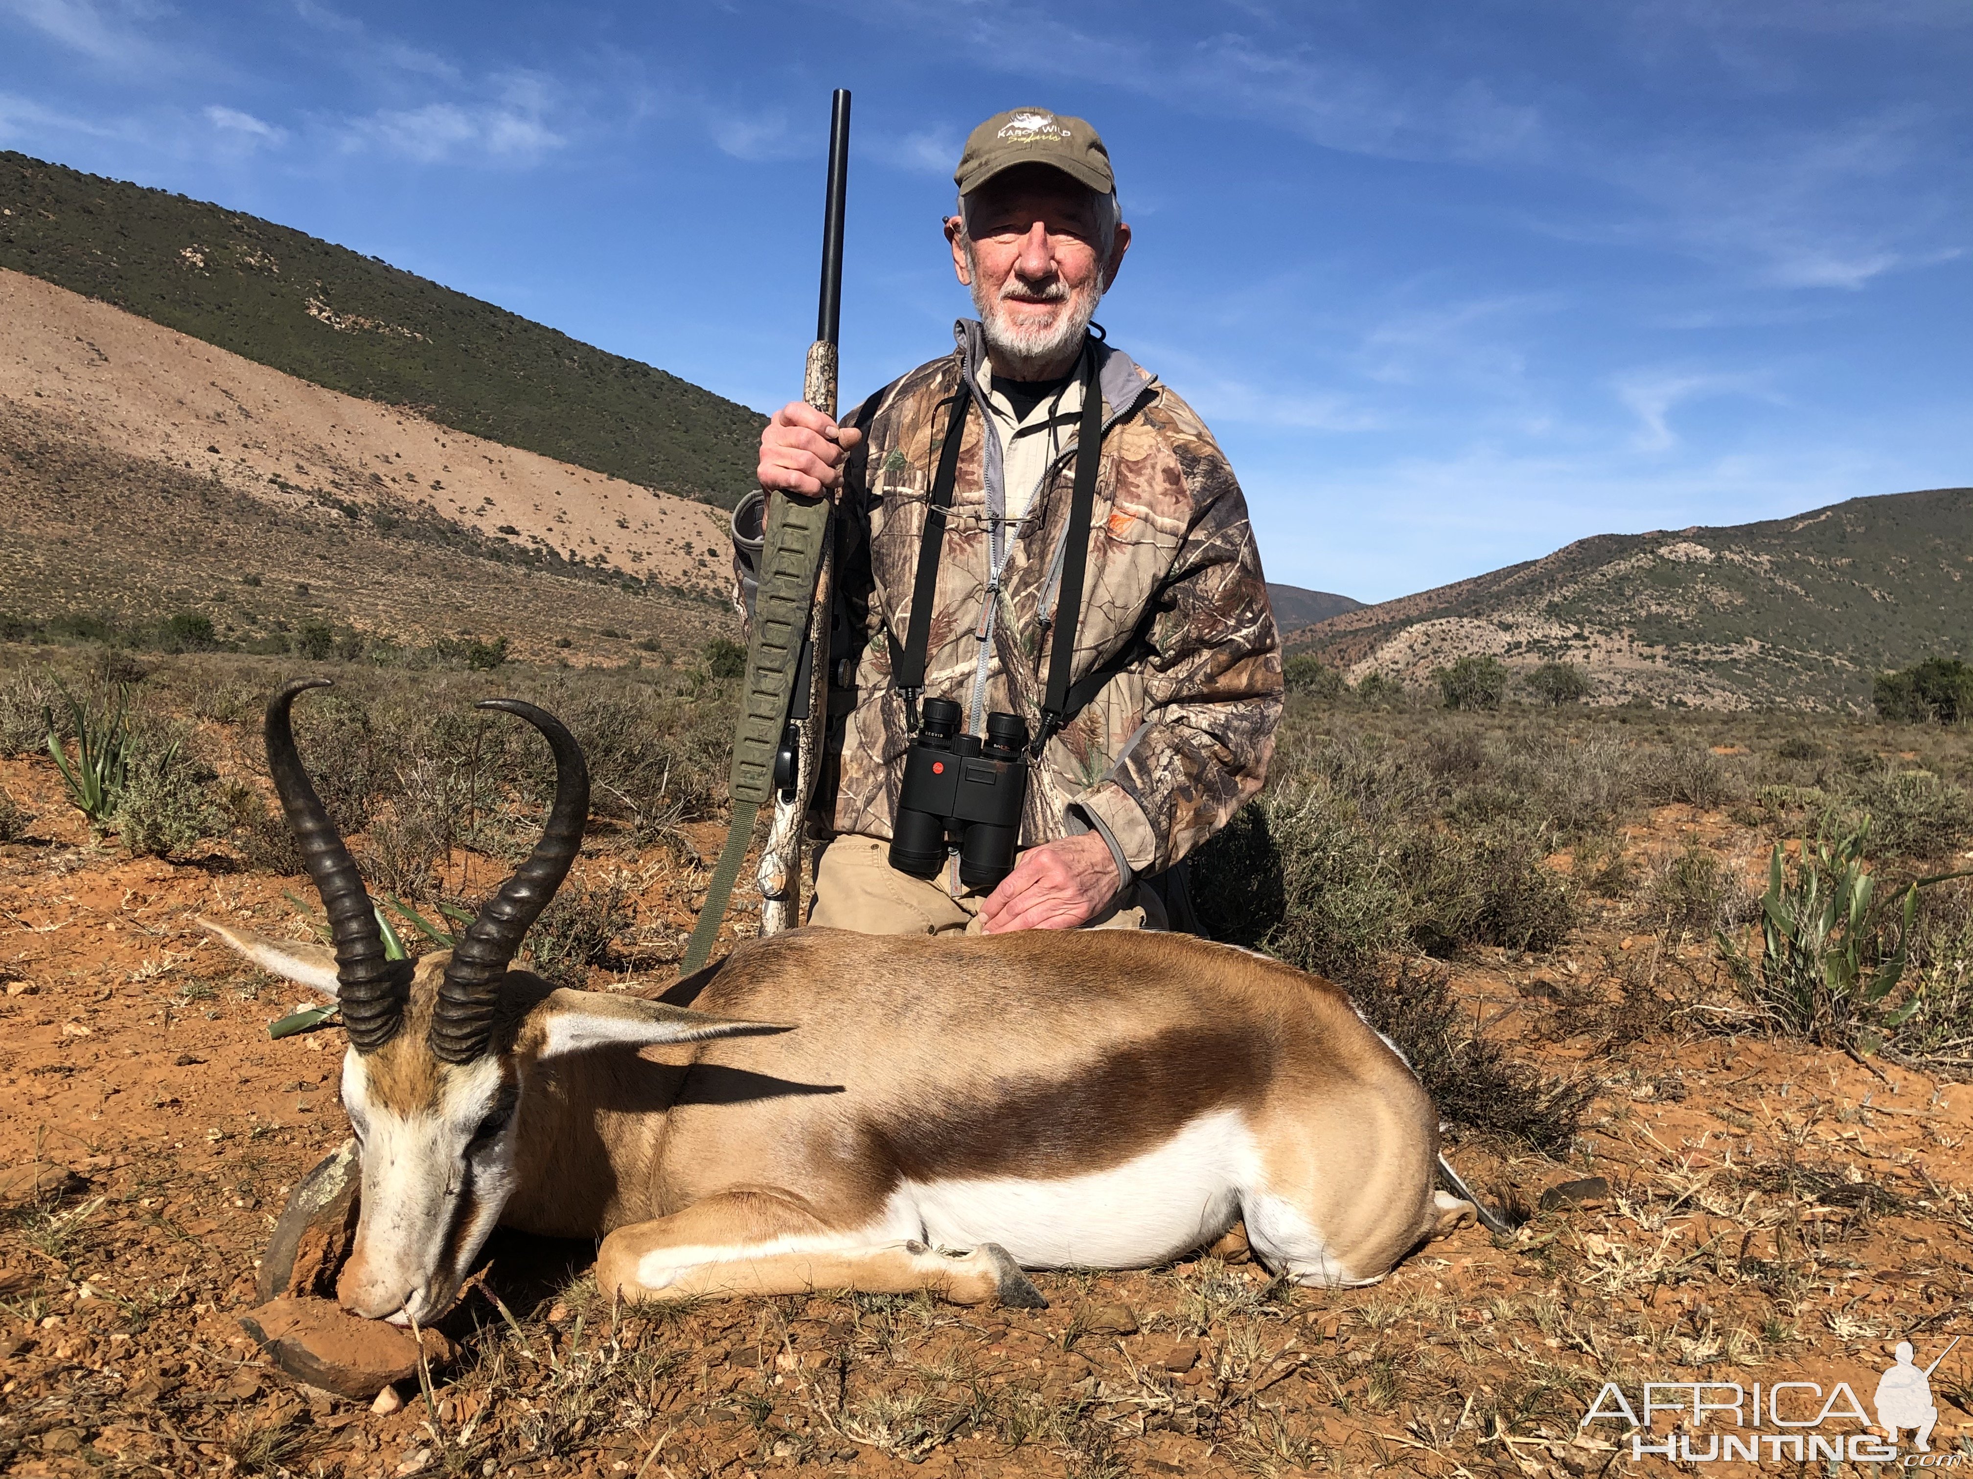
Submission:
<svg viewBox="0 0 1973 1479">
<path fill-rule="evenodd" d="M 1973 1256 L 1969 1132 L 1945 1102 L 1973 1077 L 1973 881 L 1912 885 L 1973 866 L 1973 730 L 1298 682 L 1273 783 L 1196 858 L 1190 897 L 1215 937 L 1353 992 L 1515 1236 L 1468 1231 L 1346 1292 L 1271 1280 L 1231 1240 L 1144 1274 L 1044 1274 L 1052 1309 L 1020 1313 L 829 1294 L 629 1311 L 596 1296 L 586 1244 L 499 1234 L 450 1325 L 458 1361 L 408 1406 L 294 1390 L 233 1313 L 282 1191 L 343 1134 L 335 1053 L 310 1047 L 333 1027 L 268 1043 L 290 990 L 213 974 L 189 927 L 215 891 L 274 931 L 316 913 L 260 775 L 266 694 L 335 678 L 298 706 L 302 753 L 412 949 L 545 810 L 547 749 L 475 698 L 554 710 L 596 777 L 537 968 L 667 982 L 724 818 L 730 643 L 641 669 L 420 663 L 0 647 L 6 909 L 55 931 L 18 937 L 45 964 L 8 966 L 34 992 L 0 1006 L 8 1085 L 51 1126 L 43 1154 L 89 1179 L 0 1211 L 10 1459 L 1594 1473 L 1618 1434 L 1576 1418 L 1606 1378 L 1831 1361 L 1855 1378 L 1918 1311 L 1959 1307 L 1941 1270 Z M 105 793 L 87 818 L 85 757 Z M 144 1089 L 89 1098 L 146 1057 Z M 1930 1102 L 1896 1094 L 1926 1085 Z M 1543 1195 L 1584 1175 L 1604 1177 L 1584 1205 Z M 1914 1282 L 1872 1286 L 1884 1268 Z M 1973 1412 L 1953 1363 L 1934 1390 Z"/>
</svg>

